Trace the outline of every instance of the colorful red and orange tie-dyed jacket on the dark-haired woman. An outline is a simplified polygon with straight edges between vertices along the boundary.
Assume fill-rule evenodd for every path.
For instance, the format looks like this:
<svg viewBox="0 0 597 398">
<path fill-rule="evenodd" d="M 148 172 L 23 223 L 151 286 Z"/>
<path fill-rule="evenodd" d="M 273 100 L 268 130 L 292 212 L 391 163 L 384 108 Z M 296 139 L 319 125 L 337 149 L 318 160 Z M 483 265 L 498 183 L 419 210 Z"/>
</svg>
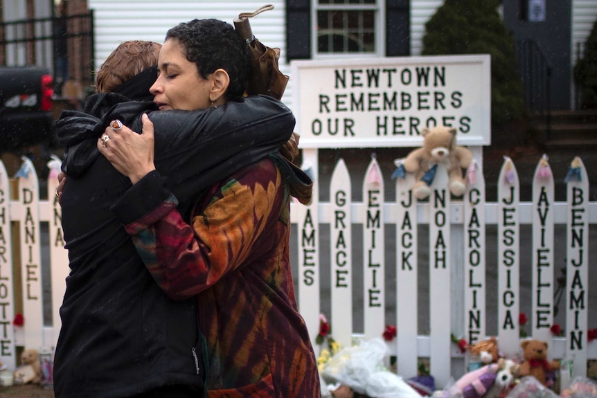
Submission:
<svg viewBox="0 0 597 398">
<path fill-rule="evenodd" d="M 265 159 L 209 189 L 192 226 L 157 172 L 114 206 L 161 288 L 172 298 L 197 296 L 208 397 L 320 396 L 289 264 L 291 188 L 310 200 L 310 185 L 293 187 Z"/>
</svg>

